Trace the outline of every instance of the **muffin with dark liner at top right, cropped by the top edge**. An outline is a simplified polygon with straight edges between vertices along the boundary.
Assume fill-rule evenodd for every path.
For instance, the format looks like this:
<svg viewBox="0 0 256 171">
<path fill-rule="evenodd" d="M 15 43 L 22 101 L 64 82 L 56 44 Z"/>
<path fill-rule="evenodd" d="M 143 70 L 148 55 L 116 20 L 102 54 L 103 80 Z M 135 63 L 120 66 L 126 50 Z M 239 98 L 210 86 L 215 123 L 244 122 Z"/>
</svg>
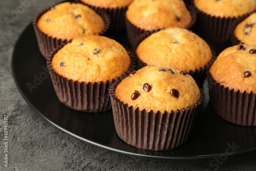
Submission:
<svg viewBox="0 0 256 171">
<path fill-rule="evenodd" d="M 228 42 L 234 22 L 240 22 L 256 9 L 254 0 L 193 0 L 198 11 L 200 35 L 216 42 Z"/>
</svg>

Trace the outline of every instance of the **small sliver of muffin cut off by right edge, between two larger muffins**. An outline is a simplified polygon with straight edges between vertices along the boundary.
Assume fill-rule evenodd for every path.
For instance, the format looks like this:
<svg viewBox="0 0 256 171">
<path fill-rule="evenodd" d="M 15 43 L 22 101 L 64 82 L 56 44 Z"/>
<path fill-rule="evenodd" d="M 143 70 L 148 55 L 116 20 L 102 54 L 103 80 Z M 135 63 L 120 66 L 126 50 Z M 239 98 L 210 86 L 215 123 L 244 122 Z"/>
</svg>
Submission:
<svg viewBox="0 0 256 171">
<path fill-rule="evenodd" d="M 239 42 L 244 44 L 256 44 L 256 13 L 252 13 L 243 22 L 238 24 L 233 32 L 232 44 L 237 45 Z"/>
</svg>

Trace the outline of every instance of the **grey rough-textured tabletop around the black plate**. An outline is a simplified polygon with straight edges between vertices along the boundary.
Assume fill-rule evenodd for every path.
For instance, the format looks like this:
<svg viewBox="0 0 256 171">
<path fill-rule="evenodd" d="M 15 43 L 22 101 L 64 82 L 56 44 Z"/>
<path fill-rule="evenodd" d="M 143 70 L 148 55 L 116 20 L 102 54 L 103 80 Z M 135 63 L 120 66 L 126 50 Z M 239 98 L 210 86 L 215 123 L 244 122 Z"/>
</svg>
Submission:
<svg viewBox="0 0 256 171">
<path fill-rule="evenodd" d="M 26 8 L 22 8 L 22 2 Z M 0 1 L 0 170 L 212 170 L 212 159 L 154 160 L 111 152 L 78 140 L 48 123 L 23 99 L 11 73 L 13 47 L 33 16 L 59 0 Z M 23 5 L 24 6 L 24 5 Z M 14 13 L 18 12 L 18 15 Z M 10 20 L 8 20 L 8 18 Z M 26 43 L 26 42 L 25 42 Z M 8 115 L 8 167 L 4 166 L 4 115 Z M 218 170 L 256 170 L 256 152 L 219 164 Z"/>
</svg>

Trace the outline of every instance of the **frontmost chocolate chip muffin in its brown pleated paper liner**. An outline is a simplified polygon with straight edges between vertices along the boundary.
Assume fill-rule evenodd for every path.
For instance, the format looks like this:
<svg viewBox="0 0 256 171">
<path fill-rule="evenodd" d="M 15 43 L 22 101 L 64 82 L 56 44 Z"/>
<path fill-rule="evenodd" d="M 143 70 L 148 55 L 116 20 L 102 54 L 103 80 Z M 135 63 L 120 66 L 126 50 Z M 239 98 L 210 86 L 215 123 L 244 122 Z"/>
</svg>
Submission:
<svg viewBox="0 0 256 171">
<path fill-rule="evenodd" d="M 190 75 L 146 66 L 110 88 L 118 136 L 138 148 L 166 150 L 186 142 L 203 95 Z"/>
</svg>

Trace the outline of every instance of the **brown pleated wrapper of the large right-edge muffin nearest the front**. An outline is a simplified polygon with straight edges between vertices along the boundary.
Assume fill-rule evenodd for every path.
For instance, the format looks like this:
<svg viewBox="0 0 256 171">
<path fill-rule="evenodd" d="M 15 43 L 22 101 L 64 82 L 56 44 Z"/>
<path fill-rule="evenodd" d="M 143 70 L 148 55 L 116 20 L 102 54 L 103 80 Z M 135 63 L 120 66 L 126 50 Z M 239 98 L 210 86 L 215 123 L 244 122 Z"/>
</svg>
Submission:
<svg viewBox="0 0 256 171">
<path fill-rule="evenodd" d="M 215 112 L 223 119 L 244 126 L 256 126 L 256 94 L 224 88 L 207 71 L 209 96 Z"/>
</svg>

